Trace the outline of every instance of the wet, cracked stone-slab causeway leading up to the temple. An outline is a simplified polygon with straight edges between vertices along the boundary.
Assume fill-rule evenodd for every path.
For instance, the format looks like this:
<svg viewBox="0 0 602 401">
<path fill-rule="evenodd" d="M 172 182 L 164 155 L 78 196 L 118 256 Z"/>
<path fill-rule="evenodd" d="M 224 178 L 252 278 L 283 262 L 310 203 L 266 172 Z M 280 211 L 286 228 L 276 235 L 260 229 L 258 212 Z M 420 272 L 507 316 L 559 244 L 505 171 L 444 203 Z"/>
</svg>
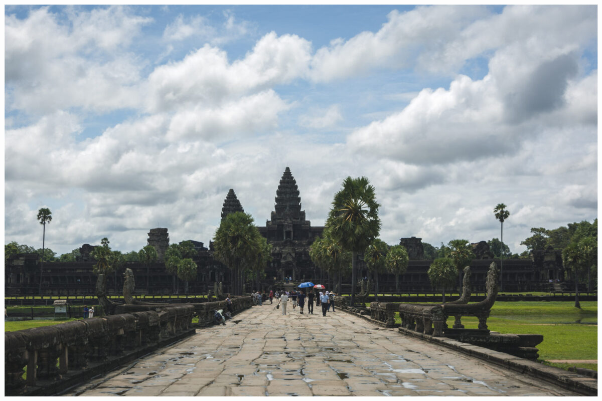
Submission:
<svg viewBox="0 0 602 401">
<path fill-rule="evenodd" d="M 270 305 L 81 385 L 69 396 L 574 396 L 347 313 Z"/>
</svg>

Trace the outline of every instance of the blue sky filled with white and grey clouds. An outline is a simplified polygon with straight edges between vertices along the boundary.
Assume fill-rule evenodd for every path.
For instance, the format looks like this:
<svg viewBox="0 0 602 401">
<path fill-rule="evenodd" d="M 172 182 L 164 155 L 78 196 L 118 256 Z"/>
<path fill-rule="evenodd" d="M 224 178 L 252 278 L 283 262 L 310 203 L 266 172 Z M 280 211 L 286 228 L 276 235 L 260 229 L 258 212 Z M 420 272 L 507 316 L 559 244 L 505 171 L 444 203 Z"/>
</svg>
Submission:
<svg viewBox="0 0 602 401">
<path fill-rule="evenodd" d="M 5 7 L 5 243 L 58 254 L 258 225 L 290 167 L 312 225 L 366 176 L 381 238 L 597 217 L 597 7 Z"/>
</svg>

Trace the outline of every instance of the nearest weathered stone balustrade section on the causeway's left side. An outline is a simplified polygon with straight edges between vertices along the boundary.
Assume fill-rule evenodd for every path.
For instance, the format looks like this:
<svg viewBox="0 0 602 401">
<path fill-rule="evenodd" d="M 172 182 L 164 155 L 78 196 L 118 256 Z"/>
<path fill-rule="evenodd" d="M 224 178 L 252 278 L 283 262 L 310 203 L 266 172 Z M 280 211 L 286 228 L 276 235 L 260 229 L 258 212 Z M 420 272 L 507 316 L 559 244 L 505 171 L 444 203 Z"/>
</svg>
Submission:
<svg viewBox="0 0 602 401">
<path fill-rule="evenodd" d="M 178 305 L 5 332 L 5 395 L 55 394 L 82 372 L 113 369 L 192 331 L 193 313 Z"/>
</svg>

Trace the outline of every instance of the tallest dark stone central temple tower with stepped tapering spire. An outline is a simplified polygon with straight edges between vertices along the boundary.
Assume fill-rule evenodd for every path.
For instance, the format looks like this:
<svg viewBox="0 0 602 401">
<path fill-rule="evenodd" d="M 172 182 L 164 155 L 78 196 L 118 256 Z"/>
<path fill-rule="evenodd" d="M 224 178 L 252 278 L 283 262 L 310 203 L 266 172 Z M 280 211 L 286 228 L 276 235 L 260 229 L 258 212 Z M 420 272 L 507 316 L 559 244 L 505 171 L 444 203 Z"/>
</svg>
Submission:
<svg viewBox="0 0 602 401">
<path fill-rule="evenodd" d="M 321 235 L 324 227 L 311 227 L 301 210 L 299 189 L 290 168 L 286 168 L 276 190 L 276 204 L 265 227 L 258 227 L 262 236 L 272 244 L 272 263 L 267 277 L 309 280 L 316 269 L 309 257 L 309 246 Z"/>
</svg>

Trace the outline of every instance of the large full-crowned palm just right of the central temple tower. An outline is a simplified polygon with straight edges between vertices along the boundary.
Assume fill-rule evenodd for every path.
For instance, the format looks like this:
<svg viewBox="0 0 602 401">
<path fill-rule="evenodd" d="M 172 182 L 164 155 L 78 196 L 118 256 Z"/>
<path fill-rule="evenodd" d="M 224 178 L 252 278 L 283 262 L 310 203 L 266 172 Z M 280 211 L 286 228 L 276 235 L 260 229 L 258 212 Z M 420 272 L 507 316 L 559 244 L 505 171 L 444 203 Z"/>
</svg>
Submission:
<svg viewBox="0 0 602 401">
<path fill-rule="evenodd" d="M 358 253 L 363 252 L 380 231 L 379 206 L 374 187 L 366 177 L 347 177 L 343 188 L 335 194 L 328 214 L 326 227 L 330 234 L 352 254 L 350 306 L 355 306 Z"/>
</svg>

